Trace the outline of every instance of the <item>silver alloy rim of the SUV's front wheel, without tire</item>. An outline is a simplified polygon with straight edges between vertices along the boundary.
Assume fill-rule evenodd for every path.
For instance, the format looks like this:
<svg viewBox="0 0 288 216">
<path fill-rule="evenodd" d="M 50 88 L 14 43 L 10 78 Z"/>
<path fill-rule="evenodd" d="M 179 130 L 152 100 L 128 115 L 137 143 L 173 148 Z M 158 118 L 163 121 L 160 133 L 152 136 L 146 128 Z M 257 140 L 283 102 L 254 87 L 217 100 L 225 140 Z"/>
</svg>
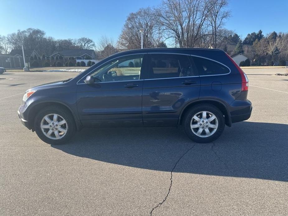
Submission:
<svg viewBox="0 0 288 216">
<path fill-rule="evenodd" d="M 61 139 L 68 130 L 66 120 L 58 114 L 48 114 L 43 117 L 40 123 L 43 134 L 50 139 Z"/>
</svg>

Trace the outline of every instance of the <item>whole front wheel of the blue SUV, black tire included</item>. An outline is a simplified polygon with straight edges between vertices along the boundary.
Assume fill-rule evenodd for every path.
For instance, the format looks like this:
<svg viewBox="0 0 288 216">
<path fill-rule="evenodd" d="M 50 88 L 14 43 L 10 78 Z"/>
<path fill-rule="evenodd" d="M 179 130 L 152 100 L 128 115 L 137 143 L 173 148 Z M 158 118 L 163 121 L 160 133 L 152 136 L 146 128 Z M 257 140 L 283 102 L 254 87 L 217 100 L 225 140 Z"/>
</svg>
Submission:
<svg viewBox="0 0 288 216">
<path fill-rule="evenodd" d="M 55 115 L 56 121 L 54 121 Z M 51 122 L 49 123 L 47 120 Z M 62 124 L 63 122 L 65 123 Z M 66 143 L 72 138 L 76 131 L 76 125 L 70 111 L 61 106 L 49 106 L 37 113 L 34 120 L 34 129 L 42 141 L 51 145 L 58 145 Z M 50 133 L 49 131 L 51 132 L 50 137 L 47 136 Z M 57 137 L 56 133 L 58 133 Z"/>
</svg>

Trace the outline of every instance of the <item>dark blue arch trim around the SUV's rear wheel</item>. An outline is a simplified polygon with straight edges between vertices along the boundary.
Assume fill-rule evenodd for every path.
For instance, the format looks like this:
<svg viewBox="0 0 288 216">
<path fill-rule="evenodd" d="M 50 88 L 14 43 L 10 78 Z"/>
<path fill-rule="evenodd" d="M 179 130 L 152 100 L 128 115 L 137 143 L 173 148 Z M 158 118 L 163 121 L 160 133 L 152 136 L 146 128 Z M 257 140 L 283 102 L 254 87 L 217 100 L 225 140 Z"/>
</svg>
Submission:
<svg viewBox="0 0 288 216">
<path fill-rule="evenodd" d="M 197 106 L 199 104 L 211 104 L 211 105 L 216 106 L 223 113 L 224 118 L 225 118 L 225 124 L 228 127 L 231 127 L 232 120 L 231 120 L 230 112 L 227 109 L 227 105 L 220 100 L 212 99 L 212 98 L 199 99 L 199 100 L 195 100 L 195 101 L 191 101 L 187 103 L 186 106 L 184 106 L 180 112 L 178 125 L 182 124 L 183 116 L 186 114 L 186 112 L 188 112 L 188 110 L 190 110 L 191 107 Z"/>
</svg>

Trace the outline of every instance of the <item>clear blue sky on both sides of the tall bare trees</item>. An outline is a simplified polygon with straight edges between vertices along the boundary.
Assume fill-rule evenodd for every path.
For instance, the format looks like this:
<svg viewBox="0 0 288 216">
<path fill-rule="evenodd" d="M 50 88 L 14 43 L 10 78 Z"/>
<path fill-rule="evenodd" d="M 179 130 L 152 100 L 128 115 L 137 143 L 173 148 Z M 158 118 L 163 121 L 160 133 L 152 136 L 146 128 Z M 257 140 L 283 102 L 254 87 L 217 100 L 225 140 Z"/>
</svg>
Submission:
<svg viewBox="0 0 288 216">
<path fill-rule="evenodd" d="M 0 0 L 0 35 L 38 28 L 55 39 L 106 35 L 117 40 L 129 13 L 162 0 Z M 230 0 L 225 27 L 242 39 L 261 29 L 288 32 L 288 0 Z"/>
</svg>

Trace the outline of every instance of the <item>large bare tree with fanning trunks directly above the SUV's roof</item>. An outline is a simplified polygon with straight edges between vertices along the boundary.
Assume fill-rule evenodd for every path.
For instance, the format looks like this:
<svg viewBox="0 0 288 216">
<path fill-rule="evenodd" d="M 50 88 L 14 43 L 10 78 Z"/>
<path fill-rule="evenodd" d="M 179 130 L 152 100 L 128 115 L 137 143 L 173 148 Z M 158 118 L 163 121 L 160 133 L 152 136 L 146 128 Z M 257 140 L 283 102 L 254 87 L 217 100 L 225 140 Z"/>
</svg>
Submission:
<svg viewBox="0 0 288 216">
<path fill-rule="evenodd" d="M 210 10 L 210 0 L 165 0 L 157 16 L 166 38 L 174 38 L 179 47 L 194 47 Z"/>
</svg>

